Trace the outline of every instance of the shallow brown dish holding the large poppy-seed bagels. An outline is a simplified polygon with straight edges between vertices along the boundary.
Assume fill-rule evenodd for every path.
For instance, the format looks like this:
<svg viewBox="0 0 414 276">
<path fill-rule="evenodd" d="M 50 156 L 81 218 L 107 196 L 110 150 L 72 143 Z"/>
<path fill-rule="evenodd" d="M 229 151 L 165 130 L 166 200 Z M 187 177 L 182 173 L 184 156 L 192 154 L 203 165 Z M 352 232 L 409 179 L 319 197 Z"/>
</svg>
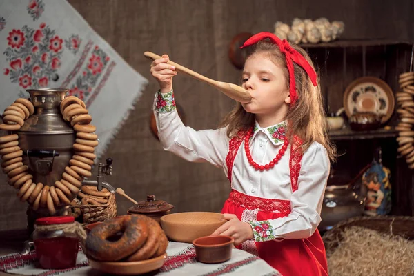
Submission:
<svg viewBox="0 0 414 276">
<path fill-rule="evenodd" d="M 152 259 L 138 262 L 99 262 L 88 259 L 89 265 L 103 273 L 113 273 L 117 275 L 137 275 L 157 270 L 164 265 L 167 255 L 161 255 Z"/>
</svg>

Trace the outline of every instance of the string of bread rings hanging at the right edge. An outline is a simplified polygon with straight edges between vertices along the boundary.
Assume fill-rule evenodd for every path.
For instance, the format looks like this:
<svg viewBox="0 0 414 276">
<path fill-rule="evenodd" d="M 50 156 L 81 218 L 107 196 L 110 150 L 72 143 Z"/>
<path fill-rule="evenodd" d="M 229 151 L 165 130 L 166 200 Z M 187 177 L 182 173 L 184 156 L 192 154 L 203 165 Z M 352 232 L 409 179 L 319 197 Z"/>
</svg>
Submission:
<svg viewBox="0 0 414 276">
<path fill-rule="evenodd" d="M 395 93 L 397 98 L 397 113 L 400 117 L 395 130 L 398 130 L 397 151 L 403 155 L 408 164 L 408 168 L 414 168 L 414 72 L 400 74 L 398 80 L 402 92 Z"/>
</svg>

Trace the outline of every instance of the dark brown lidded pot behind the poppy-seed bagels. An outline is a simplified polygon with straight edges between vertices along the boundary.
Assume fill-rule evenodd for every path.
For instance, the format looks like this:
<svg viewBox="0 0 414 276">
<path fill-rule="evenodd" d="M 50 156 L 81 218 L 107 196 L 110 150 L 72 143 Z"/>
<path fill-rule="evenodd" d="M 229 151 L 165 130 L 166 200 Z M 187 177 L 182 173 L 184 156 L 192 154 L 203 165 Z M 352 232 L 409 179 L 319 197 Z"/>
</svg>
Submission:
<svg viewBox="0 0 414 276">
<path fill-rule="evenodd" d="M 174 206 L 168 204 L 166 201 L 155 199 L 155 195 L 147 195 L 146 201 L 139 201 L 134 206 L 128 208 L 127 213 L 129 215 L 146 215 L 155 219 L 160 224 L 161 217 L 170 213 L 172 208 Z"/>
</svg>

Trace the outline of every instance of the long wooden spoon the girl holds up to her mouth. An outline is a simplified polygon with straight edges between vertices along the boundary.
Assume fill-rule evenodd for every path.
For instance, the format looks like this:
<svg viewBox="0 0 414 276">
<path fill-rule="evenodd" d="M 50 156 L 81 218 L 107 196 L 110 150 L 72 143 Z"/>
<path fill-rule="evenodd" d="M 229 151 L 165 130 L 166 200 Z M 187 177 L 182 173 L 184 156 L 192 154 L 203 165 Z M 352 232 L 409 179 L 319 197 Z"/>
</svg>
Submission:
<svg viewBox="0 0 414 276">
<path fill-rule="evenodd" d="M 153 52 L 144 52 L 144 56 L 149 57 L 150 59 L 161 58 L 159 55 L 156 55 Z M 246 91 L 246 89 L 242 88 L 242 86 L 237 86 L 233 83 L 226 83 L 221 81 L 215 81 L 213 79 L 208 79 L 208 77 L 204 77 L 203 75 L 200 75 L 199 73 L 194 72 L 193 70 L 190 70 L 172 61 L 168 61 L 167 63 L 172 66 L 175 66 L 175 69 L 179 72 L 184 72 L 187 75 L 190 75 L 190 77 L 199 79 L 200 81 L 204 81 L 205 83 L 210 84 L 210 86 L 217 88 L 231 99 L 234 99 L 241 103 L 248 103 L 252 99 L 250 94 Z"/>
</svg>

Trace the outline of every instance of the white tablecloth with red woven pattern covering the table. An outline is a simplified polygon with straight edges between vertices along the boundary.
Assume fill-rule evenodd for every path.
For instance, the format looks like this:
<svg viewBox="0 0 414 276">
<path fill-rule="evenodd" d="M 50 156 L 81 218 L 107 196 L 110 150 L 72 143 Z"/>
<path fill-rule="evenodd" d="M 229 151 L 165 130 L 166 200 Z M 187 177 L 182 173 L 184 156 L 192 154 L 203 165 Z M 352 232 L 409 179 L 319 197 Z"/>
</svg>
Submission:
<svg viewBox="0 0 414 276">
<path fill-rule="evenodd" d="M 19 275 L 101 275 L 88 266 L 88 259 L 82 251 L 77 257 L 77 266 L 65 270 L 43 270 L 36 268 L 35 252 L 28 255 L 10 254 L 0 257 L 0 271 Z M 246 251 L 233 248 L 232 257 L 221 264 L 202 264 L 195 259 L 192 244 L 170 242 L 167 248 L 166 262 L 152 275 L 253 275 L 280 276 L 263 259 Z"/>
</svg>

